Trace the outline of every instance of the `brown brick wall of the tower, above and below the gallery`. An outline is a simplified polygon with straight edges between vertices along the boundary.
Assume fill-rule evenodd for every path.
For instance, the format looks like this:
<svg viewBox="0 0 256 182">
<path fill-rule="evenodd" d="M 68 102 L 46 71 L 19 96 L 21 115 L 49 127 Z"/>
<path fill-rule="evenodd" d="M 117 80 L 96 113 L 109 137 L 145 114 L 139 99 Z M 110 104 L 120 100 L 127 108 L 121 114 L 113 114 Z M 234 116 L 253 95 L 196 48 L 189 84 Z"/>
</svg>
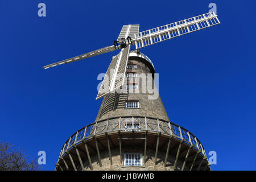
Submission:
<svg viewBox="0 0 256 182">
<path fill-rule="evenodd" d="M 142 58 L 129 58 L 129 63 L 137 65 L 137 68 L 127 68 L 127 73 L 137 73 L 137 78 L 126 78 L 125 83 L 138 84 L 138 89 L 129 89 L 128 92 L 110 93 L 104 97 L 100 110 L 98 111 L 96 121 L 102 119 L 108 119 L 112 117 L 123 116 L 140 116 L 140 117 L 152 117 L 170 121 L 164 108 L 162 99 L 156 88 L 154 81 L 154 68 L 151 64 L 148 64 L 146 60 Z M 150 77 L 148 77 L 150 76 Z M 151 79 L 151 81 L 149 79 Z M 147 86 L 150 88 L 148 89 Z M 156 89 L 154 89 L 156 88 Z M 152 98 L 152 91 L 154 90 L 154 99 Z M 126 101 L 139 101 L 139 108 L 128 109 L 125 108 Z M 98 163 L 97 155 L 91 156 L 93 170 L 173 170 L 174 156 L 169 155 L 167 166 L 164 167 L 164 158 L 166 153 L 163 151 L 158 152 L 158 158 L 155 165 L 155 149 L 148 148 L 146 152 L 146 163 L 142 167 L 125 167 L 123 166 L 123 153 L 141 153 L 143 154 L 143 148 L 138 146 L 135 151 L 134 148 L 125 147 L 122 151 L 122 163 L 120 163 L 119 148 L 112 148 L 112 165 L 110 165 L 108 151 L 101 151 L 101 163 L 100 167 Z M 177 169 L 181 168 L 182 162 L 178 162 Z M 88 159 L 85 160 L 85 170 L 91 170 L 89 168 Z"/>
</svg>

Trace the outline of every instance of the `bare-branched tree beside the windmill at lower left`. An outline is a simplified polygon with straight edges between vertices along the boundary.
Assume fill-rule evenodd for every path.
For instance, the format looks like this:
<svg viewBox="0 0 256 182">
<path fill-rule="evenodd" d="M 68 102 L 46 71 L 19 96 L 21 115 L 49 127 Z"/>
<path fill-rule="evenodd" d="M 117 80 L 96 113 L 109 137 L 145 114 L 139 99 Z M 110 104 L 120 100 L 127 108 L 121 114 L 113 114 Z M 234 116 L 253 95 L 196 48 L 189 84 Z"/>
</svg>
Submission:
<svg viewBox="0 0 256 182">
<path fill-rule="evenodd" d="M 26 152 L 11 149 L 13 145 L 9 142 L 0 142 L 0 171 L 38 171 L 39 164 L 36 160 L 28 162 Z"/>
</svg>

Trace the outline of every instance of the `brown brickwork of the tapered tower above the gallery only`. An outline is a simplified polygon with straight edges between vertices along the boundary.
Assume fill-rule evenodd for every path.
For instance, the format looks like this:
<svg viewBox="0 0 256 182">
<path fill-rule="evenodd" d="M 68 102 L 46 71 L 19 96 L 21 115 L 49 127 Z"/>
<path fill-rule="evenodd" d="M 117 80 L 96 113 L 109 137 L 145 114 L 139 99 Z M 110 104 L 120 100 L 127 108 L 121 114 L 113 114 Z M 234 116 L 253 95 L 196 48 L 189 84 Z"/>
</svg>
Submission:
<svg viewBox="0 0 256 182">
<path fill-rule="evenodd" d="M 166 109 L 164 108 L 162 99 L 158 93 L 154 79 L 151 78 L 152 81 L 150 82 L 150 80 L 147 78 L 147 76 L 154 76 L 152 75 L 152 70 L 154 71 L 154 68 L 152 68 L 150 64 L 146 64 L 144 60 L 141 60 L 142 58 L 136 60 L 130 59 L 129 64 L 137 65 L 137 68 L 127 68 L 126 70 L 127 72 L 137 73 L 138 78 L 132 78 L 127 82 L 135 82 L 138 84 L 139 89 L 131 89 L 128 90 L 129 92 L 127 93 L 125 88 L 125 92 L 120 94 L 110 93 L 105 96 L 100 110 L 98 111 L 96 121 L 122 116 L 153 117 L 170 121 L 166 113 Z M 148 73 L 151 75 L 148 75 Z M 150 88 L 149 91 L 148 88 Z M 150 93 L 153 90 L 155 92 L 154 96 L 156 97 L 154 97 L 155 99 L 150 99 L 150 97 L 153 97 L 153 94 Z M 127 100 L 139 101 L 139 108 L 126 109 L 125 102 Z"/>
</svg>

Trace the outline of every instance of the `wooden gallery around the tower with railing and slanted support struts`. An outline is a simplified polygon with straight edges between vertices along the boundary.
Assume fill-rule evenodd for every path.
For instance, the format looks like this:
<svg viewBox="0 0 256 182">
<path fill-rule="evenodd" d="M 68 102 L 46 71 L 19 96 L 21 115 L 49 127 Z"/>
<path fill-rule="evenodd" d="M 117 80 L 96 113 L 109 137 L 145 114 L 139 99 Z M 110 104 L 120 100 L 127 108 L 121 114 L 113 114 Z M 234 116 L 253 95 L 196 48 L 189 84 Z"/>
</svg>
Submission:
<svg viewBox="0 0 256 182">
<path fill-rule="evenodd" d="M 56 170 L 93 169 L 92 156 L 97 156 L 101 168 L 102 152 L 107 152 L 111 166 L 113 150 L 118 151 L 122 166 L 127 147 L 141 148 L 144 165 L 151 149 L 155 165 L 159 152 L 164 154 L 163 168 L 168 166 L 168 156 L 173 156 L 172 170 L 210 170 L 207 154 L 195 135 L 169 121 L 136 116 L 94 122 L 71 135 L 61 148 Z"/>
</svg>

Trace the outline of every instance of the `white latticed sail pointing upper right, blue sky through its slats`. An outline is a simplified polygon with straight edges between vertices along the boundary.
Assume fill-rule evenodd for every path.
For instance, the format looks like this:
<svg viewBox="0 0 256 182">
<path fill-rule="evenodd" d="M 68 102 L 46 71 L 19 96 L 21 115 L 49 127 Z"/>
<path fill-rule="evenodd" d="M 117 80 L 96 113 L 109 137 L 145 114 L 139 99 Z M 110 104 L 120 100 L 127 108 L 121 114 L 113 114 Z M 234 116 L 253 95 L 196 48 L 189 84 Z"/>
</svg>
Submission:
<svg viewBox="0 0 256 182">
<path fill-rule="evenodd" d="M 175 38 L 176 36 L 185 35 L 193 31 L 211 27 L 219 23 L 220 21 L 218 20 L 217 15 L 215 15 L 214 12 L 210 12 L 139 32 L 138 34 L 135 34 L 135 38 L 132 42 L 135 43 L 136 49 L 142 48 L 163 42 L 164 40 Z"/>
</svg>

